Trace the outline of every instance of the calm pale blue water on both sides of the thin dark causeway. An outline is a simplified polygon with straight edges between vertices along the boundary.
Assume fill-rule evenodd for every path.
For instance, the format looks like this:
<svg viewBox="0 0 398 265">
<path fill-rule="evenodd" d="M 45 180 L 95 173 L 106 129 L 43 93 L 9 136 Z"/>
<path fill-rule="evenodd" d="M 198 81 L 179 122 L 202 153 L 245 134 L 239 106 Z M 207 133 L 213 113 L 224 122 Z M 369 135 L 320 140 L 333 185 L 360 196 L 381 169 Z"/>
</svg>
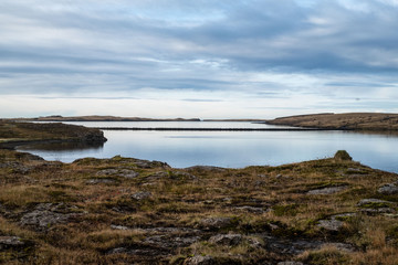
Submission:
<svg viewBox="0 0 398 265">
<path fill-rule="evenodd" d="M 77 124 L 77 123 L 73 123 Z M 177 127 L 172 123 L 84 123 L 90 127 Z M 134 123 L 136 124 L 136 123 Z M 188 125 L 190 124 L 190 125 Z M 177 123 L 178 126 L 232 128 L 230 123 Z M 233 128 L 265 125 L 232 123 Z M 251 127 L 251 128 L 253 128 Z M 398 172 L 398 137 L 344 131 L 115 131 L 104 130 L 103 146 L 42 145 L 23 147 L 48 160 L 71 162 L 82 157 L 109 158 L 116 155 L 159 160 L 171 167 L 208 165 L 242 168 L 251 165 L 283 165 L 332 157 L 345 149 L 356 161 Z"/>
</svg>

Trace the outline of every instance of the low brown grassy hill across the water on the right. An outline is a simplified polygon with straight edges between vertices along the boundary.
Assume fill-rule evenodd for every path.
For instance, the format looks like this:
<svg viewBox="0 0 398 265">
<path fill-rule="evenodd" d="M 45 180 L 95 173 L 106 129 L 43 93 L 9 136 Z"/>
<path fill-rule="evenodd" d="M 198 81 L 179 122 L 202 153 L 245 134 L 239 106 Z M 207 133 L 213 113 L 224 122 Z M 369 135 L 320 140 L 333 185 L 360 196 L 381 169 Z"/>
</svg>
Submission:
<svg viewBox="0 0 398 265">
<path fill-rule="evenodd" d="M 398 114 L 346 113 L 310 114 L 275 118 L 270 125 L 341 130 L 398 130 Z"/>
</svg>

